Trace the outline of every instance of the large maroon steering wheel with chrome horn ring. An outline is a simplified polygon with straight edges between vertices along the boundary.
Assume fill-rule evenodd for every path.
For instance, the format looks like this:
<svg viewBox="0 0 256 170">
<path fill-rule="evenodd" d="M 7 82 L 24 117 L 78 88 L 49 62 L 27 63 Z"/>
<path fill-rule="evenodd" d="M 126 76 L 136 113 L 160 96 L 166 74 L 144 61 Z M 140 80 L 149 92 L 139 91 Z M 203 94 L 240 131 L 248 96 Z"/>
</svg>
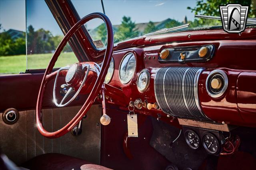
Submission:
<svg viewBox="0 0 256 170">
<path fill-rule="evenodd" d="M 86 22 L 88 22 L 89 20 L 92 20 L 94 18 L 100 18 L 105 22 L 106 28 L 107 28 L 107 33 L 108 33 L 108 35 L 107 35 L 108 42 L 107 42 L 106 52 L 105 52 L 105 56 L 104 56 L 101 68 L 98 66 L 98 64 L 96 64 L 94 62 L 82 62 L 82 63 L 76 63 L 72 66 L 60 68 L 56 72 L 52 72 L 54 64 L 57 61 L 58 56 L 60 55 L 60 52 L 63 50 L 63 48 L 66 45 L 66 43 L 68 42 L 68 40 L 73 36 L 73 34 L 76 32 L 76 30 L 78 30 L 83 24 L 85 24 Z M 112 24 L 106 15 L 99 13 L 99 12 L 89 14 L 89 15 L 85 16 L 84 18 L 82 18 L 81 20 L 79 20 L 64 36 L 64 38 L 60 42 L 58 48 L 54 52 L 54 54 L 48 64 L 48 67 L 46 68 L 46 71 L 44 73 L 44 78 L 42 80 L 42 84 L 41 84 L 41 87 L 39 90 L 37 103 L 36 103 L 36 124 L 37 124 L 39 132 L 43 136 L 45 136 L 47 138 L 58 138 L 60 136 L 63 136 L 64 134 L 69 132 L 74 126 L 76 126 L 76 124 L 78 124 L 78 122 L 80 120 L 82 120 L 83 116 L 90 109 L 95 98 L 97 97 L 98 93 L 100 92 L 100 90 L 102 88 L 102 84 L 104 83 L 104 79 L 108 72 L 108 67 L 109 67 L 109 64 L 111 61 L 113 45 L 114 45 L 114 34 L 113 34 Z M 65 70 L 68 70 L 68 71 L 65 72 Z M 79 71 L 77 71 L 77 70 L 79 70 Z M 68 96 L 72 92 L 76 93 L 75 96 L 79 93 L 82 86 L 84 85 L 84 82 L 86 81 L 89 71 L 93 72 L 93 74 L 96 74 L 97 78 L 96 78 L 96 82 L 95 82 L 86 102 L 82 106 L 82 108 L 78 111 L 76 116 L 74 116 L 74 118 L 60 130 L 57 130 L 55 132 L 48 132 L 47 130 L 45 130 L 42 125 L 42 116 L 41 115 L 42 115 L 42 101 L 43 101 L 44 90 L 46 88 L 46 84 L 54 76 L 56 76 L 56 79 L 57 79 L 58 75 L 66 76 L 66 83 L 70 86 L 70 89 L 68 90 L 68 92 L 66 93 L 66 95 L 64 96 L 64 98 L 62 99 L 60 104 L 58 104 L 58 102 L 55 99 L 56 80 L 54 83 L 54 90 L 53 90 L 54 91 L 54 103 L 56 104 L 56 106 L 58 106 L 58 107 L 66 106 L 74 99 L 74 96 L 70 99 L 70 101 L 66 102 L 66 104 L 62 104 L 62 102 L 66 98 L 68 98 Z M 80 74 L 79 74 L 79 72 L 80 72 Z M 80 76 L 77 76 L 77 75 L 80 75 Z M 82 78 L 82 77 L 84 77 L 84 78 Z M 79 86 L 79 88 L 77 88 L 77 86 Z"/>
</svg>

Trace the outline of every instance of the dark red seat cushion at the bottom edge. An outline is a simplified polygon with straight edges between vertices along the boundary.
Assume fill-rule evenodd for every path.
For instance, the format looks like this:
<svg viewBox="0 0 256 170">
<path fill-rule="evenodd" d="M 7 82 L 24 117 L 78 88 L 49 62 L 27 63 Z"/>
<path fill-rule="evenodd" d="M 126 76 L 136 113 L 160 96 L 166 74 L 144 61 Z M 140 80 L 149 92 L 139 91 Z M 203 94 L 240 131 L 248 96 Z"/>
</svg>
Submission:
<svg viewBox="0 0 256 170">
<path fill-rule="evenodd" d="M 28 160 L 22 167 L 30 170 L 110 170 L 64 154 L 42 154 Z"/>
</svg>

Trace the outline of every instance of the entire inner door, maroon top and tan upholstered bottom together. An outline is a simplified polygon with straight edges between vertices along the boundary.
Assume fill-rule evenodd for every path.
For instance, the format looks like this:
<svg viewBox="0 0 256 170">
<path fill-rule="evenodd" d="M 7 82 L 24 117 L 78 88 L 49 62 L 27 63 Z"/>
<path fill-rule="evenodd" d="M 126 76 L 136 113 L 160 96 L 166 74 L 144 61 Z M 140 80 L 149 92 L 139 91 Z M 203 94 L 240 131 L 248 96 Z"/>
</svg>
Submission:
<svg viewBox="0 0 256 170">
<path fill-rule="evenodd" d="M 97 126 L 102 107 L 93 105 L 83 119 L 82 134 L 68 133 L 60 138 L 44 138 L 36 128 L 36 100 L 43 73 L 0 76 L 0 152 L 6 154 L 16 164 L 44 153 L 62 153 L 100 164 L 100 133 Z M 57 87 L 64 84 L 58 79 Z M 65 126 L 80 110 L 86 95 L 79 95 L 69 107 L 56 108 L 52 102 L 54 80 L 46 86 L 43 100 L 42 118 L 46 130 L 52 132 Z M 57 89 L 57 97 L 62 98 Z M 4 123 L 2 112 L 8 108 L 19 111 L 18 121 L 12 125 Z"/>
</svg>

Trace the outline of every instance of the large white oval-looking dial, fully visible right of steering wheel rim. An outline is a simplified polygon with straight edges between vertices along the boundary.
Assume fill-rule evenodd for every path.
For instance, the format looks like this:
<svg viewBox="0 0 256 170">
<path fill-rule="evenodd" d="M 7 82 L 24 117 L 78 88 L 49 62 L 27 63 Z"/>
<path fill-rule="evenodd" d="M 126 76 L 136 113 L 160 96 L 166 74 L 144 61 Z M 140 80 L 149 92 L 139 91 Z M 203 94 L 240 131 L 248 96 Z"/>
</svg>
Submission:
<svg viewBox="0 0 256 170">
<path fill-rule="evenodd" d="M 122 59 L 119 67 L 119 78 L 123 84 L 127 84 L 132 79 L 136 69 L 136 58 L 134 54 L 128 53 Z"/>
</svg>

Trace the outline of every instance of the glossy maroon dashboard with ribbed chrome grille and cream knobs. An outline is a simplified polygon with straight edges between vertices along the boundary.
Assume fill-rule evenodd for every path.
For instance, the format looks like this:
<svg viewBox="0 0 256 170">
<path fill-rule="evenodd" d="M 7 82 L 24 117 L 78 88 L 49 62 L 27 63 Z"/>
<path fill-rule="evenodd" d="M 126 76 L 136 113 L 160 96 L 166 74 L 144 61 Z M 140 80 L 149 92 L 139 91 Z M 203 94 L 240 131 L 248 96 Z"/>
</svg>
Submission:
<svg viewBox="0 0 256 170">
<path fill-rule="evenodd" d="M 208 49 L 205 57 L 198 56 L 202 47 Z M 168 50 L 164 59 L 160 58 L 163 50 Z M 136 70 L 125 84 L 120 64 L 128 54 L 135 56 Z M 182 54 L 186 55 L 183 60 Z M 114 73 L 110 86 L 106 85 L 112 92 L 106 101 L 127 110 L 131 101 L 141 99 L 135 112 L 158 115 L 168 122 L 185 118 L 256 127 L 255 54 L 255 28 L 242 34 L 199 30 L 129 40 L 114 46 Z M 144 69 L 150 79 L 141 92 L 137 81 Z M 217 85 L 212 88 L 214 81 Z"/>
</svg>

